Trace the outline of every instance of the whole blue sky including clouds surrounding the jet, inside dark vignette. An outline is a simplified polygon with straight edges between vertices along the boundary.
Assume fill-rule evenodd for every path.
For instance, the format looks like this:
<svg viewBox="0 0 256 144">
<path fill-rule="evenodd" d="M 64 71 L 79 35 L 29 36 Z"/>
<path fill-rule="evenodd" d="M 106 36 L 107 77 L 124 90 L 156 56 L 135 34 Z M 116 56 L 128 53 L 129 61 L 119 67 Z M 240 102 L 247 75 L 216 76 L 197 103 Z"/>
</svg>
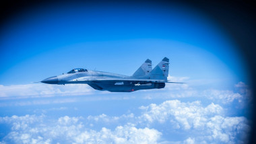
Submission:
<svg viewBox="0 0 256 144">
<path fill-rule="evenodd" d="M 245 141 L 243 57 L 222 26 L 192 7 L 44 5 L 6 22 L 0 38 L 2 142 Z M 132 75 L 163 57 L 170 79 L 187 84 L 110 93 L 33 83 L 76 67 Z"/>
</svg>

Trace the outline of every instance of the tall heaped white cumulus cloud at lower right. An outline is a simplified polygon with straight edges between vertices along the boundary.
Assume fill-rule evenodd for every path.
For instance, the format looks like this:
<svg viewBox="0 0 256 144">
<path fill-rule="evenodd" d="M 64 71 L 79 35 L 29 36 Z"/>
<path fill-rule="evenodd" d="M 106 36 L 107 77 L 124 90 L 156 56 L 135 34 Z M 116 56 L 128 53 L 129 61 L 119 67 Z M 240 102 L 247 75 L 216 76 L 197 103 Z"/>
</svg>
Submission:
<svg viewBox="0 0 256 144">
<path fill-rule="evenodd" d="M 168 100 L 162 104 L 140 107 L 141 123 L 160 123 L 171 126 L 173 133 L 188 133 L 184 143 L 236 143 L 243 142 L 250 130 L 244 116 L 225 116 L 218 104 L 203 106 L 201 102 Z"/>
</svg>

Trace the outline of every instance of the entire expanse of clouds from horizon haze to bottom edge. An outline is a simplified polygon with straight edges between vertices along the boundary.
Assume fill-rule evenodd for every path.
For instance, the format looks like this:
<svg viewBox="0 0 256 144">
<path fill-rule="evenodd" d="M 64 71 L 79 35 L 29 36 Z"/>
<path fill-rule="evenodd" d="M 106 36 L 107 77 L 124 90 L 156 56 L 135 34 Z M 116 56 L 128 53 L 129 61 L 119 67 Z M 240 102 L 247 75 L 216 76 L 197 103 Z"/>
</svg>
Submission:
<svg viewBox="0 0 256 144">
<path fill-rule="evenodd" d="M 178 81 L 183 79 L 187 77 Z M 249 120 L 243 113 L 237 116 L 234 111 L 243 110 L 245 107 L 237 106 L 247 104 L 250 95 L 249 87 L 243 82 L 233 89 L 198 89 L 179 84 L 129 95 L 98 92 L 88 85 L 0 85 L 1 108 L 54 106 L 31 110 L 39 115 L 0 117 L 0 124 L 8 127 L 1 143 L 246 143 L 251 129 Z M 91 99 L 150 103 L 144 106 L 139 103 L 137 108 L 122 114 L 80 113 L 78 116 L 67 114 L 71 112 L 67 104 L 56 107 L 56 104 L 77 104 Z M 65 115 L 44 115 L 55 112 Z"/>
</svg>

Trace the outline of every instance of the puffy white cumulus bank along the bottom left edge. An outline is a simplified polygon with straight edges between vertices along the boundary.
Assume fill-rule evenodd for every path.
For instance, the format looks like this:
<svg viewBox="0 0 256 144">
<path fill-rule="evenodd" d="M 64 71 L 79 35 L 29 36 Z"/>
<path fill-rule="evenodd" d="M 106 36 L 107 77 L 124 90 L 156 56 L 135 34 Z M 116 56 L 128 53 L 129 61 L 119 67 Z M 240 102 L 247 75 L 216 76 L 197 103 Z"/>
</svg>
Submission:
<svg viewBox="0 0 256 144">
<path fill-rule="evenodd" d="M 63 116 L 48 120 L 46 116 L 1 117 L 12 125 L 2 143 L 158 143 L 162 133 L 156 129 L 137 128 L 134 124 L 115 129 L 88 129 L 82 117 Z"/>
</svg>

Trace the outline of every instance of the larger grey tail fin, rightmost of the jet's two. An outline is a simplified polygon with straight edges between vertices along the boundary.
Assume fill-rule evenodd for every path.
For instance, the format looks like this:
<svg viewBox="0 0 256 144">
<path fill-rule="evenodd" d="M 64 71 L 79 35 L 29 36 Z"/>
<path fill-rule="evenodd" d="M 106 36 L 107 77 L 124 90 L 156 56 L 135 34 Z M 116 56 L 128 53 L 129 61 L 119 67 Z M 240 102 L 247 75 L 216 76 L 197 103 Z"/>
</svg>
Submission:
<svg viewBox="0 0 256 144">
<path fill-rule="evenodd" d="M 150 72 L 150 79 L 167 80 L 169 72 L 169 59 L 164 57 L 156 67 Z"/>
</svg>

